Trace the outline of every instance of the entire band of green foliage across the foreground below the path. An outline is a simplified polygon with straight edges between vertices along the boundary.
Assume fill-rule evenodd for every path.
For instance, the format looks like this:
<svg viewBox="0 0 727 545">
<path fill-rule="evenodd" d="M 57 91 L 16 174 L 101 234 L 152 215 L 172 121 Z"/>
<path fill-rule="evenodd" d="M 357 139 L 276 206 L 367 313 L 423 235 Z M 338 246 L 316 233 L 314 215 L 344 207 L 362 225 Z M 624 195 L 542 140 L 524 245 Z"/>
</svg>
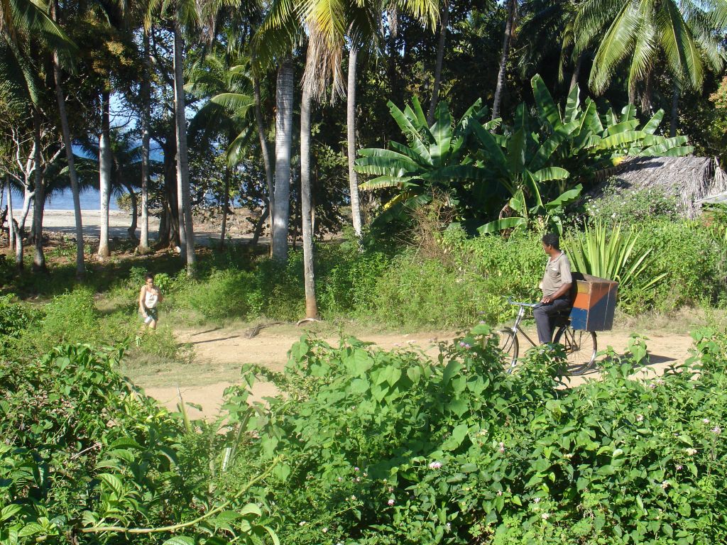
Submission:
<svg viewBox="0 0 727 545">
<path fill-rule="evenodd" d="M 630 379 L 561 388 L 558 351 L 504 372 L 489 328 L 431 360 L 302 338 L 282 394 L 228 392 L 225 433 L 170 414 L 64 346 L 0 374 L 0 542 L 295 544 L 718 542 L 725 517 L 727 337 Z"/>
</svg>

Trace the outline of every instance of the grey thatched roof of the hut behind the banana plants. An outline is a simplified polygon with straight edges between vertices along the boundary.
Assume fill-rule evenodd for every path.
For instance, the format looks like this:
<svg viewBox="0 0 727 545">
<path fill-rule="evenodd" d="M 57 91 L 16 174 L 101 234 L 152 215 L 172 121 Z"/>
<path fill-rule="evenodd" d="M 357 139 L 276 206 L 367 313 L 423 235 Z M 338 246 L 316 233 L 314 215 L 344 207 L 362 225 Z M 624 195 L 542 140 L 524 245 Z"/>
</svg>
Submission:
<svg viewBox="0 0 727 545">
<path fill-rule="evenodd" d="M 659 189 L 675 195 L 686 217 L 699 214 L 705 198 L 727 192 L 727 174 L 708 157 L 632 157 L 598 172 L 589 193 L 598 198 L 606 186 L 616 190 Z"/>
</svg>

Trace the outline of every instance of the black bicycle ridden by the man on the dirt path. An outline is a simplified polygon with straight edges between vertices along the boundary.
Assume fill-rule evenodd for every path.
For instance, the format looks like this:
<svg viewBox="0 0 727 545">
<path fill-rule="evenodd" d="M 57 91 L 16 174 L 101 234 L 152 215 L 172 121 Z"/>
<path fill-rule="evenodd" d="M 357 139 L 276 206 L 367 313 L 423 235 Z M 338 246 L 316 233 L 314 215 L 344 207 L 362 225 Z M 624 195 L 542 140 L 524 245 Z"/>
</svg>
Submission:
<svg viewBox="0 0 727 545">
<path fill-rule="evenodd" d="M 499 336 L 498 348 L 505 355 L 505 365 L 507 371 L 512 373 L 515 366 L 518 365 L 518 355 L 520 351 L 520 342 L 518 334 L 522 335 L 533 347 L 538 345 L 522 331 L 520 324 L 525 317 L 527 308 L 535 308 L 539 303 L 523 303 L 507 299 L 507 302 L 520 307 L 518 315 L 515 317 L 515 324 L 512 328 L 504 328 L 496 331 Z M 595 331 L 583 331 L 582 329 L 574 329 L 571 327 L 571 318 L 565 312 L 555 316 L 555 325 L 558 330 L 555 331 L 554 343 L 562 344 L 566 352 L 566 361 L 568 362 L 569 373 L 571 375 L 583 374 L 593 367 L 596 354 L 598 353 L 598 341 Z"/>
</svg>

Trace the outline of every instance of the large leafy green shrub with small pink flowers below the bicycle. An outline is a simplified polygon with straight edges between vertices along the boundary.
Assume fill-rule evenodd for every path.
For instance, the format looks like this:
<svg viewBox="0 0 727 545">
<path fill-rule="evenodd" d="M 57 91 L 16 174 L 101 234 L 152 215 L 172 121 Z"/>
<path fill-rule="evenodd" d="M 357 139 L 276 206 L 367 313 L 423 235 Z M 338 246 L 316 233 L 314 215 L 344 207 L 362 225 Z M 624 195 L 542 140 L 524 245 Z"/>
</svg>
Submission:
<svg viewBox="0 0 727 545">
<path fill-rule="evenodd" d="M 283 395 L 230 391 L 231 475 L 284 458 L 266 483 L 281 541 L 306 544 L 710 544 L 727 530 L 727 338 L 696 335 L 701 373 L 634 381 L 646 347 L 562 388 L 562 354 L 503 371 L 486 326 L 438 358 L 304 338 Z M 252 418 L 251 415 L 254 415 Z M 230 482 L 232 491 L 236 483 Z"/>
</svg>

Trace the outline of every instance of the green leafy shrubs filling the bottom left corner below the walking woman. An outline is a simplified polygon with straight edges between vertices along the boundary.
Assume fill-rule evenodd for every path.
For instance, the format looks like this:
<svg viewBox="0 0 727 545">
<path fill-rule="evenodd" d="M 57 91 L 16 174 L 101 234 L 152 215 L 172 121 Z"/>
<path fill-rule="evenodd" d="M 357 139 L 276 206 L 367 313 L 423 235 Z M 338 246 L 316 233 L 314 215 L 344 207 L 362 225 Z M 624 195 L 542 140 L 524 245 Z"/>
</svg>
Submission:
<svg viewBox="0 0 727 545">
<path fill-rule="evenodd" d="M 0 366 L 0 543 L 269 539 L 262 498 L 249 503 L 252 483 L 216 493 L 217 427 L 160 408 L 113 371 L 120 358 L 65 345 Z"/>
</svg>

